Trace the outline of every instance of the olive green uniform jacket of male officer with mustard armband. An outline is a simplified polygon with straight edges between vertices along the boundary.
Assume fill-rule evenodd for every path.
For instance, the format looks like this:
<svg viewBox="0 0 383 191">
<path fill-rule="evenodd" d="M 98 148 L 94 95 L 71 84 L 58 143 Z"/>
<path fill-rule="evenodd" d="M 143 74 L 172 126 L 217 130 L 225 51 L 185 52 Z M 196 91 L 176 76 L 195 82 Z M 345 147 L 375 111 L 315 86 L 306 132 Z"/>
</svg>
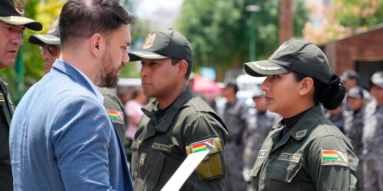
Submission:
<svg viewBox="0 0 383 191">
<path fill-rule="evenodd" d="M 159 121 L 158 110 L 157 100 L 142 108 L 145 115 L 131 146 L 134 190 L 159 191 L 187 155 L 198 152 L 196 147 L 203 145 L 201 150 L 210 150 L 209 154 L 180 190 L 223 191 L 228 131 L 221 118 L 190 87 Z"/>
</svg>

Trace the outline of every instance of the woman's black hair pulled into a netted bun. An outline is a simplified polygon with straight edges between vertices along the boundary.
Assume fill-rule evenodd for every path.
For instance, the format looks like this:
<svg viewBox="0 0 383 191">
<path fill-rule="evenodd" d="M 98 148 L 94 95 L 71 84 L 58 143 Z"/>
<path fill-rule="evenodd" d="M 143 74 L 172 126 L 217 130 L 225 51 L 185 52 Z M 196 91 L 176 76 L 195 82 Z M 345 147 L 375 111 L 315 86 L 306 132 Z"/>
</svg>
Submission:
<svg viewBox="0 0 383 191">
<path fill-rule="evenodd" d="M 295 80 L 300 82 L 304 78 L 311 78 L 305 74 L 293 71 Z M 329 84 L 323 83 L 318 79 L 311 78 L 314 81 L 314 101 L 323 104 L 327 110 L 334 110 L 342 103 L 346 94 L 346 88 L 340 77 L 336 73 L 331 73 Z"/>
</svg>

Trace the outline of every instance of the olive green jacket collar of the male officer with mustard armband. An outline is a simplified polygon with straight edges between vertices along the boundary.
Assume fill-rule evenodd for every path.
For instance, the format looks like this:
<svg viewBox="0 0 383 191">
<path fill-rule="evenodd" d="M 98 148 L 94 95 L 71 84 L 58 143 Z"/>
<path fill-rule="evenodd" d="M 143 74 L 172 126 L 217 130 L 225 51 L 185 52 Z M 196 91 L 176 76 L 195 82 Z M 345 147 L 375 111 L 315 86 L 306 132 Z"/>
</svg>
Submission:
<svg viewBox="0 0 383 191">
<path fill-rule="evenodd" d="M 159 132 L 167 132 L 169 127 L 173 123 L 173 118 L 180 110 L 181 106 L 185 103 L 185 101 L 191 97 L 192 91 L 190 89 L 190 86 L 184 91 L 180 96 L 177 97 L 177 99 L 174 100 L 170 108 L 165 112 L 164 117 L 162 117 L 161 120 L 157 121 L 157 112 L 158 112 L 158 102 L 157 100 L 154 100 L 147 104 L 146 106 L 142 107 L 141 110 L 144 112 L 144 114 L 151 118 L 152 121 L 154 121 L 155 126 L 154 128 L 156 131 Z"/>
</svg>

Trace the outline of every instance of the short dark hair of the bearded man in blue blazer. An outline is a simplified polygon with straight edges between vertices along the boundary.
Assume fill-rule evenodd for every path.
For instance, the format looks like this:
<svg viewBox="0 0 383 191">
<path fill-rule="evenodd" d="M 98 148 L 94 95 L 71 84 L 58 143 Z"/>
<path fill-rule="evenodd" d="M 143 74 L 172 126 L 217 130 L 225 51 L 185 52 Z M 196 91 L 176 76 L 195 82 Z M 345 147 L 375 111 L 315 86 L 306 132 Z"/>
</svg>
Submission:
<svg viewBox="0 0 383 191">
<path fill-rule="evenodd" d="M 137 20 L 115 0 L 68 0 L 60 14 L 61 49 L 76 47 L 97 33 L 108 39 L 121 24 Z"/>
</svg>

